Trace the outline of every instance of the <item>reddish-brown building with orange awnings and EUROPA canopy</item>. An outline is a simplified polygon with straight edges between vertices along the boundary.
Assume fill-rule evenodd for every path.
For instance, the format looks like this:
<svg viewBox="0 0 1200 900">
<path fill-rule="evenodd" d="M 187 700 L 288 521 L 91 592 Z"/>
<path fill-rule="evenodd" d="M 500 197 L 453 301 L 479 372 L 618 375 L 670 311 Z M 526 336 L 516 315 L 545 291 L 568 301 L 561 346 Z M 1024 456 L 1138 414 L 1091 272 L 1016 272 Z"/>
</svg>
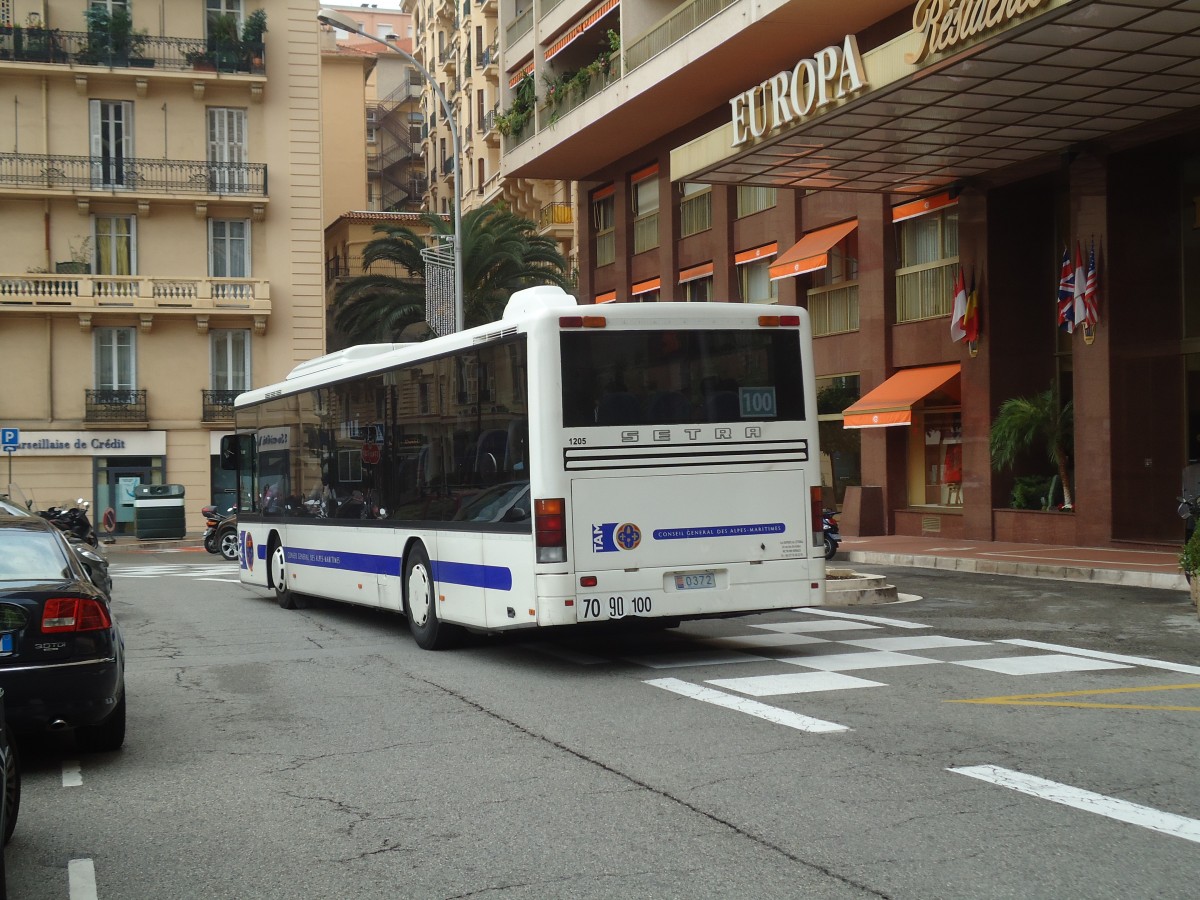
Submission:
<svg viewBox="0 0 1200 900">
<path fill-rule="evenodd" d="M 1177 544 L 1198 37 L 1182 0 L 500 0 L 502 173 L 578 182 L 588 300 L 809 310 L 850 533 Z M 1001 404 L 1048 389 L 1073 510 L 1013 509 L 1018 476 L 1062 502 L 1040 448 L 989 454 Z"/>
</svg>

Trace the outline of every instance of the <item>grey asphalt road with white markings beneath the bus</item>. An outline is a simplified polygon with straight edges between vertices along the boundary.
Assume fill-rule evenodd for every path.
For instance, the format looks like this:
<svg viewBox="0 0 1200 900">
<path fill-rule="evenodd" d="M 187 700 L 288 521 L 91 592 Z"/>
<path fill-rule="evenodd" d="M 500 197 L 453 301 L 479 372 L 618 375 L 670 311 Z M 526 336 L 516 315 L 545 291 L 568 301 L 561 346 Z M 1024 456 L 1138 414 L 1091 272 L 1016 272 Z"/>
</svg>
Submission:
<svg viewBox="0 0 1200 900">
<path fill-rule="evenodd" d="M 12 898 L 1200 883 L 1183 594 L 892 570 L 922 599 L 427 653 L 395 616 L 286 612 L 204 553 L 113 565 L 127 742 L 25 742 Z"/>
</svg>

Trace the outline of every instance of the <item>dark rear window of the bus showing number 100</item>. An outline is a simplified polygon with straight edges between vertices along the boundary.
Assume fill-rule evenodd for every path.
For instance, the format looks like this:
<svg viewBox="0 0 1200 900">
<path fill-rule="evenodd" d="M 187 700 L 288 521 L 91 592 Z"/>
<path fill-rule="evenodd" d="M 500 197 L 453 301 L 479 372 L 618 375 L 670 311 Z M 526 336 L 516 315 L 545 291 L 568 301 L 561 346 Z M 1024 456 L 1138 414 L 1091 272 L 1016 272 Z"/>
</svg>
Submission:
<svg viewBox="0 0 1200 900">
<path fill-rule="evenodd" d="M 800 421 L 794 331 L 568 331 L 563 426 Z"/>
</svg>

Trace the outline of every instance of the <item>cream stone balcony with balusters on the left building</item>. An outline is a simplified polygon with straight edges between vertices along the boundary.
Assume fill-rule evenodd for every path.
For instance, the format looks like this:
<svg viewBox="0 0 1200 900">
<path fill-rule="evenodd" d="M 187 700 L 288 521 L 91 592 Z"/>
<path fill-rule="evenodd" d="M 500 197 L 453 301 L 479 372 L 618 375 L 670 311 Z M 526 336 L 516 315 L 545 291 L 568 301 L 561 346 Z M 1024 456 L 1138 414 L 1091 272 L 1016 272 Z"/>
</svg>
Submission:
<svg viewBox="0 0 1200 900">
<path fill-rule="evenodd" d="M 245 314 L 253 317 L 257 334 L 265 334 L 270 296 L 263 278 L 0 272 L 0 318 L 34 311 L 78 316 L 85 331 L 97 313 L 137 314 L 144 331 L 156 316 L 193 316 L 202 334 L 210 314 Z"/>
</svg>

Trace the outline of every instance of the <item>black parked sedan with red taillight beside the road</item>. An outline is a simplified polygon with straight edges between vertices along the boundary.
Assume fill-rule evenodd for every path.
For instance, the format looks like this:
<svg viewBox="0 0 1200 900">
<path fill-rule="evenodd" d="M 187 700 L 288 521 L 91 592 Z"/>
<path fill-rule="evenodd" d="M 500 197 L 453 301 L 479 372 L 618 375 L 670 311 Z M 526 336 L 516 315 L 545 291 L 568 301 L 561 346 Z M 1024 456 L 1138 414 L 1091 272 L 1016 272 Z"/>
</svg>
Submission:
<svg viewBox="0 0 1200 900">
<path fill-rule="evenodd" d="M 0 689 L 13 731 L 74 728 L 83 750 L 125 742 L 125 642 L 108 594 L 37 516 L 0 515 Z"/>
</svg>

